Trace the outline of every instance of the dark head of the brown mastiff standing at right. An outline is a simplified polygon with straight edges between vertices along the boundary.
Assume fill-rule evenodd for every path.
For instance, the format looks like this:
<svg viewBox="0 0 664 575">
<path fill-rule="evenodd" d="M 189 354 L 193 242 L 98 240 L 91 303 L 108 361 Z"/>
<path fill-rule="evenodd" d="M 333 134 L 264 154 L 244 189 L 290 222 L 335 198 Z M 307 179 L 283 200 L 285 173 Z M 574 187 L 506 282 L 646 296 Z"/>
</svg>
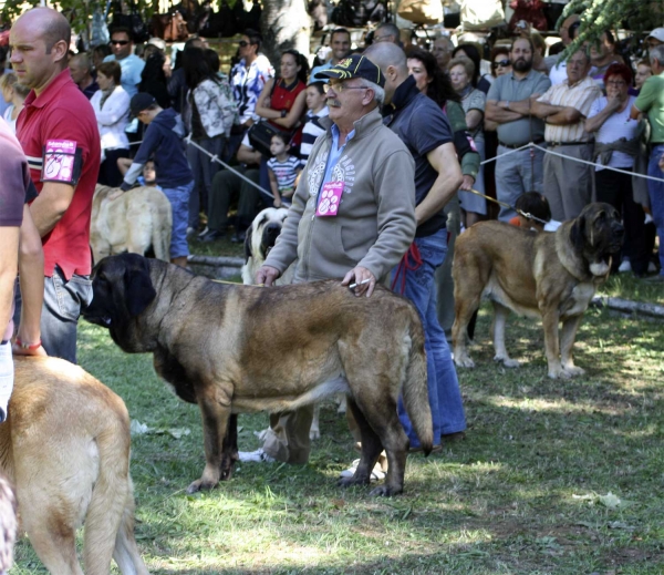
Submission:
<svg viewBox="0 0 664 575">
<path fill-rule="evenodd" d="M 620 214 L 610 204 L 596 202 L 583 208 L 570 232 L 574 250 L 582 255 L 594 276 L 604 276 L 611 268 L 611 257 L 623 244 L 625 228 Z"/>
</svg>

